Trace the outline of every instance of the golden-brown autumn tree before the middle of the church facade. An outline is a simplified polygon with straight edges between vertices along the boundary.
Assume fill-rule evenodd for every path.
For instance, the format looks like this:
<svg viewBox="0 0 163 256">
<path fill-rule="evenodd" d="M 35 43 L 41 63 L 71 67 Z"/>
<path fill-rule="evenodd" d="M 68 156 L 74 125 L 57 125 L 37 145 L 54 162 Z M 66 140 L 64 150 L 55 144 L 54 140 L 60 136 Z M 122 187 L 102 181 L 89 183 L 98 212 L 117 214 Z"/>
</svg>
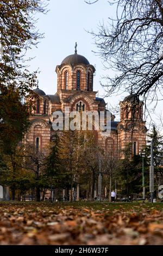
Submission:
<svg viewBox="0 0 163 256">
<path fill-rule="evenodd" d="M 60 158 L 62 172 L 69 175 L 71 184 L 70 200 L 73 187 L 77 184 L 87 186 L 91 191 L 91 175 L 95 167 L 95 143 L 92 131 L 64 131 L 60 135 Z M 96 144 L 97 148 L 97 144 Z M 92 163 L 91 163 L 92 160 Z M 97 159 L 96 159 L 97 160 Z M 90 171 L 91 169 L 91 171 Z M 95 178 L 93 178 L 95 184 Z"/>
</svg>

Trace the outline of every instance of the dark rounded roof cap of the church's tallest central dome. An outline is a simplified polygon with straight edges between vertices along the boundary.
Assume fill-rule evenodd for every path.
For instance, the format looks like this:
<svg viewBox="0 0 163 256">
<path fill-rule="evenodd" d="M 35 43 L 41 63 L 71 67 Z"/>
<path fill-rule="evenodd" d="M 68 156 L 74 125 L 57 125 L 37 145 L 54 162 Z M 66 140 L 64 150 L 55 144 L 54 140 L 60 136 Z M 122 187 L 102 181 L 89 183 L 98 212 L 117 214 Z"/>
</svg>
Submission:
<svg viewBox="0 0 163 256">
<path fill-rule="evenodd" d="M 77 53 L 68 55 L 64 60 L 62 60 L 61 64 L 84 64 L 84 65 L 90 65 L 89 61 L 82 55 L 79 55 Z"/>
</svg>

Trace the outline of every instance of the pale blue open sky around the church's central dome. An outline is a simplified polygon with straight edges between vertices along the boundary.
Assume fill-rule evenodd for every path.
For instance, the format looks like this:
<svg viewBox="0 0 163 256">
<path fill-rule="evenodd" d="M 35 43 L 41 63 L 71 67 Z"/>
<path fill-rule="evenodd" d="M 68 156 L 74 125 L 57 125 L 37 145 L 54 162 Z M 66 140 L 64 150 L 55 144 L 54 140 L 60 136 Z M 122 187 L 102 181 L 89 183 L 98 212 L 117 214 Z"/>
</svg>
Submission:
<svg viewBox="0 0 163 256">
<path fill-rule="evenodd" d="M 90 64 L 96 68 L 93 90 L 98 91 L 97 96 L 104 97 L 105 92 L 100 81 L 103 75 L 111 75 L 110 70 L 104 70 L 102 60 L 92 51 L 97 51 L 95 40 L 87 31 L 97 31 L 99 22 L 107 22 L 109 17 L 114 17 L 115 7 L 110 6 L 108 0 L 99 0 L 95 4 L 86 4 L 84 0 L 50 0 L 47 7 L 49 10 L 46 15 L 37 15 L 38 21 L 36 27 L 44 38 L 40 40 L 36 47 L 28 51 L 27 57 L 34 57 L 30 62 L 29 70 L 39 69 L 39 88 L 46 94 L 55 94 L 57 92 L 57 74 L 55 68 L 60 65 L 62 60 L 74 53 L 75 42 L 77 42 L 78 54 L 86 57 Z M 112 71 L 112 74 L 114 72 Z M 118 103 L 128 95 L 118 93 L 116 96 L 106 98 L 108 108 L 114 113 L 114 108 Z M 149 106 L 150 110 L 151 106 Z M 163 102 L 159 102 L 151 118 L 159 129 L 162 129 L 159 120 L 159 114 L 163 108 Z M 116 115 L 116 114 L 115 114 Z M 119 120 L 118 114 L 116 120 Z M 147 118 L 147 128 L 151 119 Z"/>
</svg>

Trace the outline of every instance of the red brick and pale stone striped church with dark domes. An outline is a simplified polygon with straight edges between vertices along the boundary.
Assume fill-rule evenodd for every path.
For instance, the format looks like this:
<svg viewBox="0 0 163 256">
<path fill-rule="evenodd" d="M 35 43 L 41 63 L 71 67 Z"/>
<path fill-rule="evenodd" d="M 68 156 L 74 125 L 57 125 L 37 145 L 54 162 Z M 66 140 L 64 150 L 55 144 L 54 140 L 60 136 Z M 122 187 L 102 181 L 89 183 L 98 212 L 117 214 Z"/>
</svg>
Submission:
<svg viewBox="0 0 163 256">
<path fill-rule="evenodd" d="M 84 56 L 77 53 L 67 56 L 61 64 L 56 66 L 57 93 L 49 95 L 39 86 L 34 94 L 29 95 L 29 101 L 34 101 L 35 108 L 30 116 L 31 127 L 27 135 L 29 144 L 35 145 L 37 150 L 43 150 L 49 145 L 54 130 L 52 128 L 53 112 L 65 113 L 69 111 L 108 111 L 104 99 L 97 97 L 93 90 L 93 74 L 95 67 Z M 36 96 L 37 95 L 37 96 Z M 134 97 L 129 95 L 120 102 L 120 121 L 111 115 L 110 134 L 105 136 L 102 131 L 96 132 L 99 145 L 110 150 L 117 156 L 117 152 L 124 149 L 128 143 L 133 145 L 133 154 L 139 154 L 146 144 L 146 126 L 143 120 L 143 102 L 137 100 L 131 111 Z M 133 125 L 134 124 L 134 125 Z"/>
</svg>

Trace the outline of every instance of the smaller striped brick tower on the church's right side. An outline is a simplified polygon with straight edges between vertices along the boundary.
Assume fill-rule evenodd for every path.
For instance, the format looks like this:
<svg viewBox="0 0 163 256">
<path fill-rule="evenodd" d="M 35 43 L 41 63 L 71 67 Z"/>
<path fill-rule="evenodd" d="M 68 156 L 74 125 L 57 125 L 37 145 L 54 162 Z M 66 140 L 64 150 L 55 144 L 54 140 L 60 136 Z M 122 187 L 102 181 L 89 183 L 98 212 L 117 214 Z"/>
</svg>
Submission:
<svg viewBox="0 0 163 256">
<path fill-rule="evenodd" d="M 138 155 L 146 145 L 145 121 L 143 120 L 143 101 L 135 95 L 129 95 L 120 102 L 121 120 L 118 123 L 118 148 L 123 150 L 131 143 L 132 154 Z"/>
</svg>

